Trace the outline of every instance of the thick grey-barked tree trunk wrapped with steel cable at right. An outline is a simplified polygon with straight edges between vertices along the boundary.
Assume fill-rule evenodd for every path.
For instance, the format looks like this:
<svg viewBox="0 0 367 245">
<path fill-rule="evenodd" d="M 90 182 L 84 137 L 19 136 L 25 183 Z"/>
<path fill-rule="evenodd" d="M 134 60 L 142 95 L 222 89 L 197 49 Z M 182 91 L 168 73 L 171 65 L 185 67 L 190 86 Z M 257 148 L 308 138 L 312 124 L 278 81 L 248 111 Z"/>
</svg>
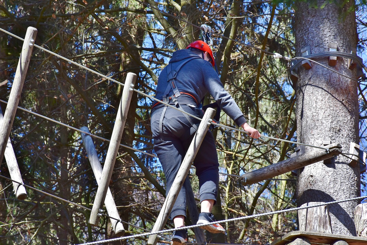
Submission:
<svg viewBox="0 0 367 245">
<path fill-rule="evenodd" d="M 357 32 L 355 12 L 347 13 L 354 1 L 344 7 L 339 1 L 317 0 L 317 8 L 306 2 L 297 2 L 295 38 L 297 56 L 301 49 L 310 46 L 311 54 L 328 51 L 328 43 L 337 43 L 338 51 L 348 52 L 356 47 Z M 340 1 L 341 2 L 341 1 Z M 328 58 L 315 61 L 328 66 Z M 349 143 L 358 143 L 357 82 L 338 75 L 315 63 L 313 68 L 299 69 L 297 84 L 297 141 L 320 146 L 323 140 L 341 143 L 348 152 Z M 346 58 L 338 58 L 331 67 L 342 74 L 356 78 L 349 70 Z M 312 150 L 306 147 L 306 152 Z M 306 166 L 299 171 L 298 206 L 307 202 L 330 202 L 360 196 L 359 166 L 352 168 L 348 158 L 338 156 L 331 163 Z M 358 201 L 329 205 L 333 234 L 356 235 L 353 211 Z"/>
</svg>

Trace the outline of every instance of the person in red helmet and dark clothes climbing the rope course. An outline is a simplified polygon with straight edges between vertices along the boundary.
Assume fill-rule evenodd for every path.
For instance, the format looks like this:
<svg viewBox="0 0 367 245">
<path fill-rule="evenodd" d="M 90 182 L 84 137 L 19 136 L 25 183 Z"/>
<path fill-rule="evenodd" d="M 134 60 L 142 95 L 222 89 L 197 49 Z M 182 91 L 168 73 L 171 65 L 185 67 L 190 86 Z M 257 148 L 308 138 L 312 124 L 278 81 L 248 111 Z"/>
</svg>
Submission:
<svg viewBox="0 0 367 245">
<path fill-rule="evenodd" d="M 174 105 L 196 117 L 203 118 L 200 101 L 209 92 L 221 109 L 241 126 L 252 138 L 259 138 L 257 129 L 246 123 L 243 113 L 236 102 L 224 89 L 217 72 L 213 69 L 214 57 L 212 50 L 203 41 L 195 41 L 186 49 L 177 50 L 172 54 L 167 67 L 158 78 L 156 98 Z M 155 103 L 151 112 L 151 127 L 154 150 L 162 164 L 166 175 L 166 193 L 170 191 L 178 169 L 186 155 L 193 135 L 200 121 L 189 117 L 181 111 Z M 201 213 L 197 224 L 214 222 L 211 213 L 216 202 L 219 184 L 219 163 L 215 140 L 208 130 L 203 143 L 193 162 L 199 178 Z M 175 228 L 184 227 L 186 217 L 186 189 L 181 188 L 171 210 L 171 218 Z M 219 224 L 202 226 L 212 233 L 224 233 Z M 187 230 L 175 231 L 172 244 L 187 241 Z"/>
</svg>

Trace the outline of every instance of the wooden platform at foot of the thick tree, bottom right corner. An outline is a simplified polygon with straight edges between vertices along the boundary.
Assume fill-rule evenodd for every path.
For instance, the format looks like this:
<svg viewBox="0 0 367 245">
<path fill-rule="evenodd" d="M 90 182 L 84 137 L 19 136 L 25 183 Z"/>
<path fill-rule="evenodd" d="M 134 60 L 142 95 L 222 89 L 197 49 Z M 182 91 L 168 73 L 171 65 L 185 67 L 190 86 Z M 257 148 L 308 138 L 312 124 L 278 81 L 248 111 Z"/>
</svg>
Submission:
<svg viewBox="0 0 367 245">
<path fill-rule="evenodd" d="M 298 237 L 307 238 L 311 245 L 320 245 L 320 244 L 332 244 L 335 241 L 345 241 L 349 245 L 366 245 L 367 239 L 361 237 L 352 237 L 345 235 L 337 235 L 337 234 L 324 234 L 319 232 L 309 232 L 309 231 L 291 231 L 284 235 L 281 238 L 276 239 L 270 245 L 286 245 L 290 241 Z"/>
</svg>

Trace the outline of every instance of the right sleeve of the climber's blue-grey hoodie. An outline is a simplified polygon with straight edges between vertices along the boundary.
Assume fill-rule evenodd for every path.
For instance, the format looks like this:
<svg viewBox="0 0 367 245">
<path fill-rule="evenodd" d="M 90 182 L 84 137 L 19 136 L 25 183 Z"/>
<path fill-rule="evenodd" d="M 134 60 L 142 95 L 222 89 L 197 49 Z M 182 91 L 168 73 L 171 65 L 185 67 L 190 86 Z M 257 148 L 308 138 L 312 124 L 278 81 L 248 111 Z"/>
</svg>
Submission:
<svg viewBox="0 0 367 245">
<path fill-rule="evenodd" d="M 210 63 L 202 67 L 203 80 L 210 95 L 219 104 L 222 110 L 240 126 L 246 123 L 240 108 L 230 94 L 224 89 L 217 72 L 211 67 Z"/>
</svg>

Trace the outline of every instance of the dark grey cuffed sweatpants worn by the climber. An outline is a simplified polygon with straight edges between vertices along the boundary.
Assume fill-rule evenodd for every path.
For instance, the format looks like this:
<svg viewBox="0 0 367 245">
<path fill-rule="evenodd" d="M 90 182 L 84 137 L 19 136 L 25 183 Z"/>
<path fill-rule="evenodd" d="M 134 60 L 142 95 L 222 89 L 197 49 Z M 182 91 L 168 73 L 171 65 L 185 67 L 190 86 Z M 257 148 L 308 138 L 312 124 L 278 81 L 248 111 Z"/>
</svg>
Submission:
<svg viewBox="0 0 367 245">
<path fill-rule="evenodd" d="M 201 109 L 181 105 L 186 112 L 203 118 L 204 113 Z M 192 141 L 193 129 L 183 114 L 173 108 L 168 107 L 163 119 L 163 135 L 159 134 L 159 119 L 163 107 L 154 110 L 151 115 L 151 127 L 154 139 L 154 150 L 162 164 L 166 175 L 166 194 L 170 191 L 172 183 L 178 173 L 178 169 L 186 155 L 186 151 Z M 199 120 L 192 118 L 193 123 Z M 219 183 L 219 164 L 214 137 L 208 130 L 203 143 L 197 153 L 194 166 L 196 175 L 199 178 L 200 202 L 206 199 L 217 200 Z M 185 185 L 181 188 L 176 202 L 171 210 L 171 218 L 177 215 L 186 217 L 186 189 Z"/>
</svg>

